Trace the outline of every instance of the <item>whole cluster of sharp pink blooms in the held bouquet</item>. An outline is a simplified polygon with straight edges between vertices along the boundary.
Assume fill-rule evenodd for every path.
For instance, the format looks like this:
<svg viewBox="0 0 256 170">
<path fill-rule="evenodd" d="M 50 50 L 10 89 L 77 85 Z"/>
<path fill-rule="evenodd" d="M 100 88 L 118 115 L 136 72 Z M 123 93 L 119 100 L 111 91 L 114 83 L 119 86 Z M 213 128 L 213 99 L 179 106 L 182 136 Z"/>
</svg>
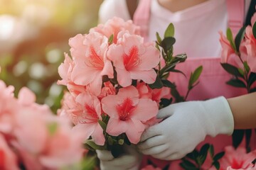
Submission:
<svg viewBox="0 0 256 170">
<path fill-rule="evenodd" d="M 107 115 L 106 132 L 112 136 L 126 133 L 136 144 L 159 110 L 166 89 L 150 89 L 156 80 L 159 50 L 154 42 L 144 42 L 132 21 L 112 18 L 91 28 L 86 35 L 70 38 L 70 55 L 58 68 L 58 84 L 67 86 L 60 115 L 74 123 L 74 130 L 105 145 L 98 123 Z M 168 91 L 167 91 L 168 92 Z"/>
</svg>

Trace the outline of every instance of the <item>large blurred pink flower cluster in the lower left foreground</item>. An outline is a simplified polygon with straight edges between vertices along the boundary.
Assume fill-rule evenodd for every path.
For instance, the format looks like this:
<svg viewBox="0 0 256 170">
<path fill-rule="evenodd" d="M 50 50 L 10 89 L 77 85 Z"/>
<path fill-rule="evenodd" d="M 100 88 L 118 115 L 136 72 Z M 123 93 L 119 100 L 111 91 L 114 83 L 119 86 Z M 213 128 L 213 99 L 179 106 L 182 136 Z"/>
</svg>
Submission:
<svg viewBox="0 0 256 170">
<path fill-rule="evenodd" d="M 60 169 L 82 159 L 82 137 L 36 96 L 0 80 L 0 169 Z"/>
</svg>

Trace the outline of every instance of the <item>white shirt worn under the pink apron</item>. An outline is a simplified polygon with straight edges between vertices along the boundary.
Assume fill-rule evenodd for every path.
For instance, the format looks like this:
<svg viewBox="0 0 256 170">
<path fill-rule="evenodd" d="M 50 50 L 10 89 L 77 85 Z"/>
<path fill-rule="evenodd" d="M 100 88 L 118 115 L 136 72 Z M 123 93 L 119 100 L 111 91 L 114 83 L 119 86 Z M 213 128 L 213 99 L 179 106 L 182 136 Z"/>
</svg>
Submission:
<svg viewBox="0 0 256 170">
<path fill-rule="evenodd" d="M 100 22 L 117 16 L 125 21 L 131 19 L 125 0 L 105 0 L 100 6 Z M 218 57 L 220 56 L 219 31 L 228 28 L 228 12 L 225 0 L 208 0 L 202 4 L 171 12 L 152 0 L 149 21 L 149 40 L 156 40 L 156 32 L 161 37 L 164 31 L 173 23 L 176 43 L 174 53 L 186 52 L 188 57 Z"/>
</svg>

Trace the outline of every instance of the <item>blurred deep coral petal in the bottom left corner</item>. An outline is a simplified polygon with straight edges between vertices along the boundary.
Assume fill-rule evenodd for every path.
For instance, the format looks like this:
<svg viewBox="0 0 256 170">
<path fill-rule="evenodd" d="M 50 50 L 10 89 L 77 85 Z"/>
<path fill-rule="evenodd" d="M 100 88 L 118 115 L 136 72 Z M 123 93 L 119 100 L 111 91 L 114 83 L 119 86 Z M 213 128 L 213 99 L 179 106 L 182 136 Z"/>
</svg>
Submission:
<svg viewBox="0 0 256 170">
<path fill-rule="evenodd" d="M 0 169 L 18 170 L 16 155 L 6 143 L 4 136 L 0 133 Z"/>
</svg>

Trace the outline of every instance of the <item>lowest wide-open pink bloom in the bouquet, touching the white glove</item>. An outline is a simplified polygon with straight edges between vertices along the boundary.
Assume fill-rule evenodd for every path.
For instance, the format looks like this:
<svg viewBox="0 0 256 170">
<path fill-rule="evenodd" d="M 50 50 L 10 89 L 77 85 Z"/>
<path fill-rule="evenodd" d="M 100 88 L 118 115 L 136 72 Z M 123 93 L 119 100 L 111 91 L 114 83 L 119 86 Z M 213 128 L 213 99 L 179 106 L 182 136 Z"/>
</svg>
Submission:
<svg viewBox="0 0 256 170">
<path fill-rule="evenodd" d="M 144 122 L 156 116 L 158 106 L 149 98 L 139 98 L 134 86 L 119 89 L 117 95 L 102 98 L 102 110 L 110 116 L 106 132 L 110 135 L 126 133 L 137 144 L 145 129 Z"/>
</svg>

